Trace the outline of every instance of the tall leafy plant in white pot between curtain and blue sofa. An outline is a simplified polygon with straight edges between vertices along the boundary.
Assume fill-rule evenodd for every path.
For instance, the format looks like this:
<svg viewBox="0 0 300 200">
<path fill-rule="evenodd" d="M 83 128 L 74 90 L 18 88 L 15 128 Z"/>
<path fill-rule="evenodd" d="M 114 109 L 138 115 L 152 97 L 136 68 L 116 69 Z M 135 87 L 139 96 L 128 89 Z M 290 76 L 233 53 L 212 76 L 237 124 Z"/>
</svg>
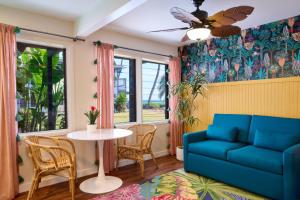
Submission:
<svg viewBox="0 0 300 200">
<path fill-rule="evenodd" d="M 207 80 L 204 73 L 193 72 L 190 80 L 184 80 L 172 87 L 172 95 L 177 96 L 177 105 L 175 113 L 178 119 L 183 123 L 184 133 L 188 127 L 198 123 L 199 118 L 193 116 L 193 110 L 196 109 L 195 100 L 198 96 L 205 96 L 207 90 Z M 176 147 L 176 157 L 183 160 L 183 147 Z"/>
</svg>

